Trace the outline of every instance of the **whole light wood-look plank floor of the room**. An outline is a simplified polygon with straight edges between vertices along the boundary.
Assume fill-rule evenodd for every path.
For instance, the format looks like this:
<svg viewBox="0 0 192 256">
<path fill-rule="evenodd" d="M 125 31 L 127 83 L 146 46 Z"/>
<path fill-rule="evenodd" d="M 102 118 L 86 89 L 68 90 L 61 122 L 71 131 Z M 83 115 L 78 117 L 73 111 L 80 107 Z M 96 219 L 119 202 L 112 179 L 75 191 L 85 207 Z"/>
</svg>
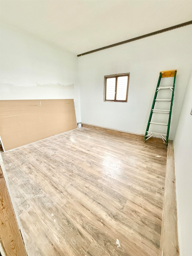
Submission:
<svg viewBox="0 0 192 256">
<path fill-rule="evenodd" d="M 2 158 L 31 256 L 160 254 L 162 142 L 80 128 Z"/>
</svg>

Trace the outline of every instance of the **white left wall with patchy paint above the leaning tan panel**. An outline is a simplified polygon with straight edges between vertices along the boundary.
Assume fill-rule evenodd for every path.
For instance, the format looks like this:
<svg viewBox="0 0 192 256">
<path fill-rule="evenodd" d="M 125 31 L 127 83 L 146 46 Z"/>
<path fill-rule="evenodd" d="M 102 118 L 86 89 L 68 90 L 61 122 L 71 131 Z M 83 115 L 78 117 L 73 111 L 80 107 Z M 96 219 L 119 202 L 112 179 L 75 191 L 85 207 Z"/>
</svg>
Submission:
<svg viewBox="0 0 192 256">
<path fill-rule="evenodd" d="M 73 98 L 80 122 L 77 56 L 1 24 L 1 100 Z"/>
</svg>

